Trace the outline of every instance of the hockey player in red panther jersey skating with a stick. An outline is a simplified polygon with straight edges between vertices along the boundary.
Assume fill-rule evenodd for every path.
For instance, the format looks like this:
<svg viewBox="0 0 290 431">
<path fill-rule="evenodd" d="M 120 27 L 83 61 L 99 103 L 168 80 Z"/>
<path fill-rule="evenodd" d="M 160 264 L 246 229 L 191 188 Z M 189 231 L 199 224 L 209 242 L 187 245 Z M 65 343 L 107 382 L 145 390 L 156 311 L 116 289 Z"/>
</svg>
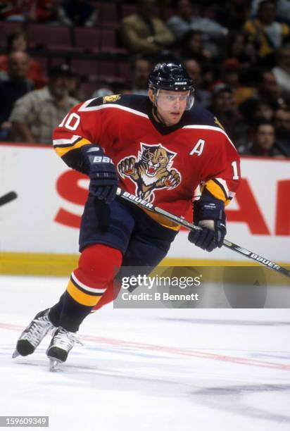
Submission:
<svg viewBox="0 0 290 431">
<path fill-rule="evenodd" d="M 41 311 L 18 339 L 13 357 L 34 352 L 54 329 L 46 351 L 53 366 L 73 348 L 82 320 L 113 300 L 116 268 L 154 267 L 179 226 L 115 197 L 117 187 L 177 215 L 194 201 L 189 241 L 221 247 L 225 205 L 239 185 L 239 156 L 213 115 L 194 108 L 194 87 L 180 64 L 159 63 L 149 94 L 113 95 L 79 104 L 56 128 L 53 145 L 71 168 L 89 176 L 80 227 L 80 260 L 58 303 Z"/>
</svg>

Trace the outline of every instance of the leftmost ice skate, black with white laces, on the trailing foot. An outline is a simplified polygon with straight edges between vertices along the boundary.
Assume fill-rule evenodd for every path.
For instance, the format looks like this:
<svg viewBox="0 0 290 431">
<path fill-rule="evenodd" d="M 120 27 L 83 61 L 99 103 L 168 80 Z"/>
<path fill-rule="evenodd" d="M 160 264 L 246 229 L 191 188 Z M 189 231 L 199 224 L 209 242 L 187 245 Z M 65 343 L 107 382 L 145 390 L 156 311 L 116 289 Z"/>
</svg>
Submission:
<svg viewBox="0 0 290 431">
<path fill-rule="evenodd" d="M 42 342 L 47 332 L 55 328 L 49 320 L 49 310 L 50 308 L 47 308 L 37 313 L 27 328 L 22 332 L 12 355 L 13 358 L 32 354 L 39 343 Z"/>
</svg>

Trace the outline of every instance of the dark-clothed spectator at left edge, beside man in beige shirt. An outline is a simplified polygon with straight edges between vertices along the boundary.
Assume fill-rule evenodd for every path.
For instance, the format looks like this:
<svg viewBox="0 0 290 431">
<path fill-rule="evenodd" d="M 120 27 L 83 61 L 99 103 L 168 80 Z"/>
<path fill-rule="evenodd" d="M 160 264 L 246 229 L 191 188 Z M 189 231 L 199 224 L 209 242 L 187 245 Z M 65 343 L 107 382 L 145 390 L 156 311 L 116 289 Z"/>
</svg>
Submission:
<svg viewBox="0 0 290 431">
<path fill-rule="evenodd" d="M 15 51 L 8 56 L 8 73 L 5 80 L 0 81 L 0 139 L 8 139 L 11 123 L 8 118 L 15 101 L 34 89 L 32 82 L 27 80 L 29 57 L 25 52 Z"/>
</svg>

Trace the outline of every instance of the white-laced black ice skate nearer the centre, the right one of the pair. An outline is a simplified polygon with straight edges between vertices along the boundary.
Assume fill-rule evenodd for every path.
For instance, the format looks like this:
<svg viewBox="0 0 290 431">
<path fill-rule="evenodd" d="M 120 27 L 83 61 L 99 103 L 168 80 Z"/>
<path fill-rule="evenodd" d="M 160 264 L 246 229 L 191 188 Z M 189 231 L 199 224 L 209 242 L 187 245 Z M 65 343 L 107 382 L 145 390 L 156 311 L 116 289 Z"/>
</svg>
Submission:
<svg viewBox="0 0 290 431">
<path fill-rule="evenodd" d="M 46 350 L 51 371 L 56 370 L 59 363 L 63 363 L 67 360 L 68 354 L 70 350 L 73 349 L 75 342 L 80 343 L 75 332 L 69 332 L 61 326 L 58 327 L 51 339 L 51 344 L 49 344 Z"/>
</svg>

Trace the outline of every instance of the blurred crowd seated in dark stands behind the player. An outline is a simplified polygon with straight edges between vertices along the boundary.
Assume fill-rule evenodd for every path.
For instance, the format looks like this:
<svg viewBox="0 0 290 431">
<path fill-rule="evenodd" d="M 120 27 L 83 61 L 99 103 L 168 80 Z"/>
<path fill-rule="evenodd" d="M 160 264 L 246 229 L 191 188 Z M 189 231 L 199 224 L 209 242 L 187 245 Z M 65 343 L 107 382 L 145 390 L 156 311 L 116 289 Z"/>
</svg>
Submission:
<svg viewBox="0 0 290 431">
<path fill-rule="evenodd" d="M 290 157 L 290 0 L 0 0 L 0 140 L 50 143 L 79 101 L 183 63 L 242 155 Z"/>
</svg>

